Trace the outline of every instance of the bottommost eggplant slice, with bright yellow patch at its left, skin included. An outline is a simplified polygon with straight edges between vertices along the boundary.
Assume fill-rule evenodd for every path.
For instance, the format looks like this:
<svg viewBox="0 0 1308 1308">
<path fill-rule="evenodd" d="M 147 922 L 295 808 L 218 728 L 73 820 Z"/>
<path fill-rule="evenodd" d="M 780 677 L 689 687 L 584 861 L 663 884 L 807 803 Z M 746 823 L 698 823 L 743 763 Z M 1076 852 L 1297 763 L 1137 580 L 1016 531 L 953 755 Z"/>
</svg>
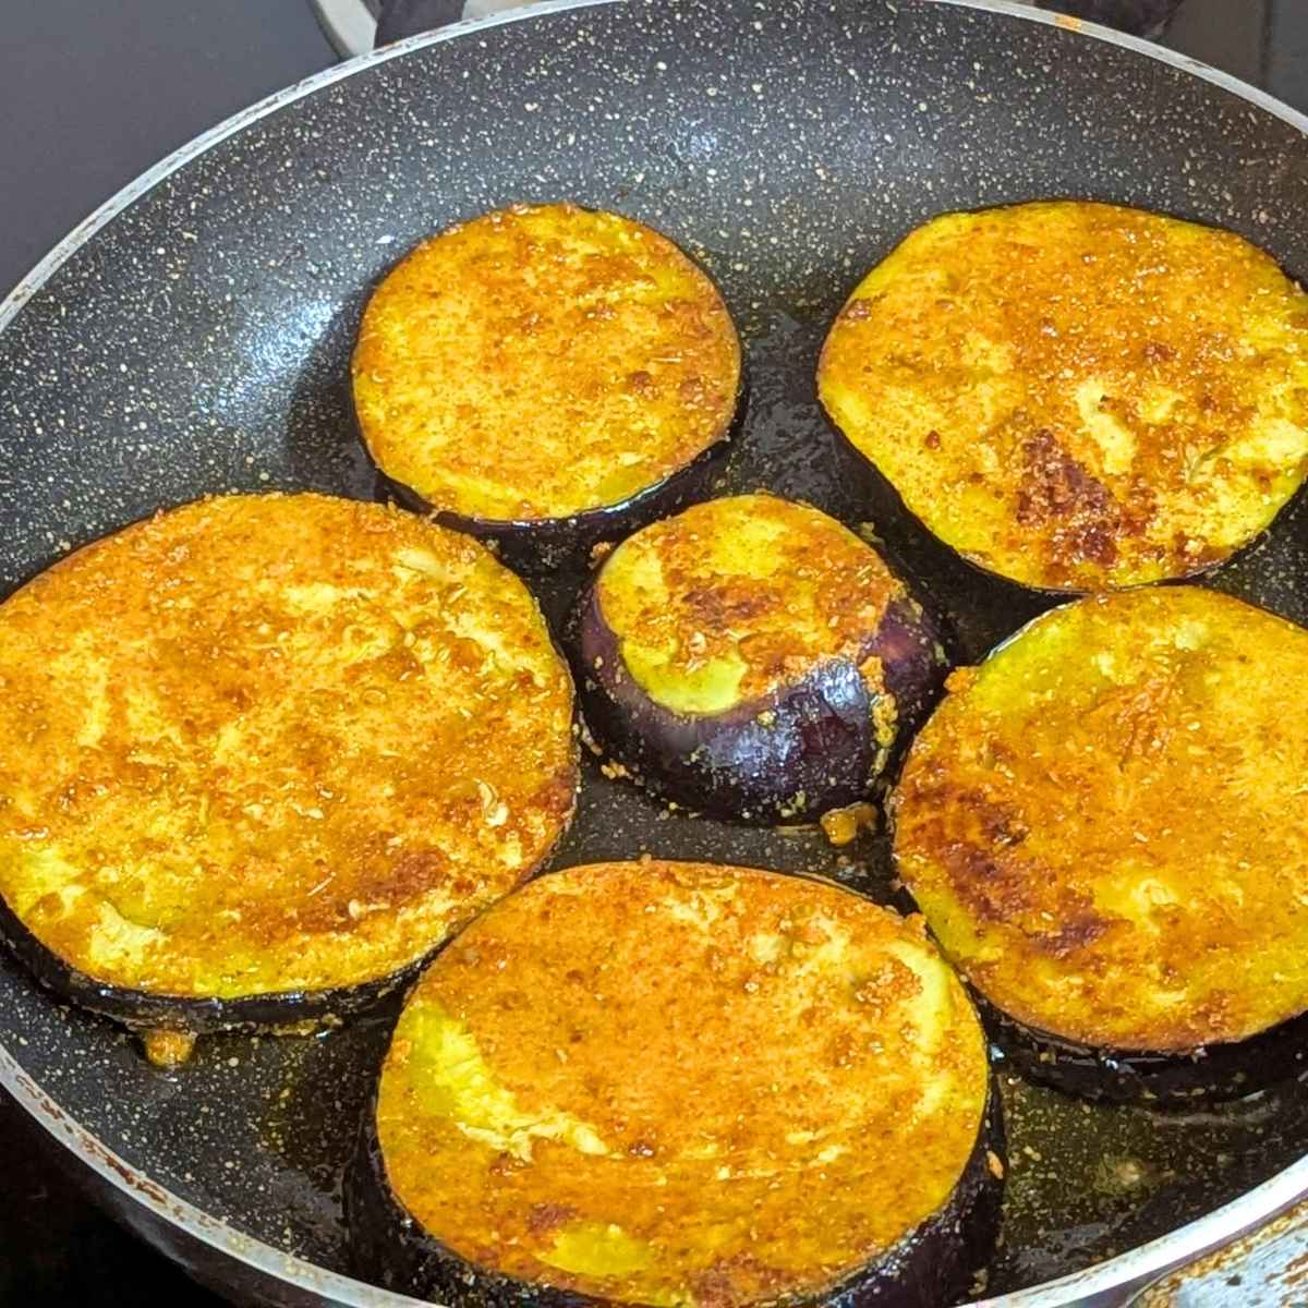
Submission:
<svg viewBox="0 0 1308 1308">
<path fill-rule="evenodd" d="M 446 1303 L 937 1308 L 990 1253 L 995 1114 L 920 918 L 776 872 L 576 867 L 409 995 L 351 1231 Z"/>
</svg>

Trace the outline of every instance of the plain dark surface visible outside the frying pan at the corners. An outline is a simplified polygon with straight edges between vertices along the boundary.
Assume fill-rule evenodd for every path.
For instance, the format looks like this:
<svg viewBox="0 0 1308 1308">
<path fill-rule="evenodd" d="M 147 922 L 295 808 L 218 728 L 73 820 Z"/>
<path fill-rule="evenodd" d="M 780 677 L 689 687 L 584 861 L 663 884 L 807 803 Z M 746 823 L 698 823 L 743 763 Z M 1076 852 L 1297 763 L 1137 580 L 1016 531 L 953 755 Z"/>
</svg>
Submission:
<svg viewBox="0 0 1308 1308">
<path fill-rule="evenodd" d="M 0 24 L 0 293 L 169 150 L 334 63 L 307 0 L 7 0 Z M 1308 109 L 1304 0 L 1184 0 L 1168 44 Z M 0 1304 L 217 1304 L 80 1198 L 3 1095 L 0 1177 Z"/>
</svg>

